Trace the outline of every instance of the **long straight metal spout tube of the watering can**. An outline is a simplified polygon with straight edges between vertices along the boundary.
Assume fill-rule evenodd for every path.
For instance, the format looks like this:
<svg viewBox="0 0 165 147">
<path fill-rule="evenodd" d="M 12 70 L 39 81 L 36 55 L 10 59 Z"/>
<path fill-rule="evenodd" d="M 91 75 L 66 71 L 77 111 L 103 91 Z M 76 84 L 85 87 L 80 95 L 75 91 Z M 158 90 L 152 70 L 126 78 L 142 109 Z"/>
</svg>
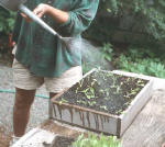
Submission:
<svg viewBox="0 0 165 147">
<path fill-rule="evenodd" d="M 35 23 L 40 24 L 43 29 L 48 31 L 51 34 L 58 36 L 59 38 L 62 37 L 59 34 L 57 34 L 50 25 L 47 25 L 42 19 L 36 16 L 30 9 L 28 9 L 24 4 L 19 5 L 19 10 L 26 14 L 32 21 Z"/>
</svg>

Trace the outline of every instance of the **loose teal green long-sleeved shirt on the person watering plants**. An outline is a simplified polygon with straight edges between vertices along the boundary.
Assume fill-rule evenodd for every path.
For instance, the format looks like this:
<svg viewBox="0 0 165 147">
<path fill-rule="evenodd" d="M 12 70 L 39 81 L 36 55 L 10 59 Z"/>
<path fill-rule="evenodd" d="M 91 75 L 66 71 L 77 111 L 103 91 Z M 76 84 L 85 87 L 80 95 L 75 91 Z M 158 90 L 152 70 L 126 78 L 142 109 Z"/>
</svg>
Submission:
<svg viewBox="0 0 165 147">
<path fill-rule="evenodd" d="M 99 0 L 28 0 L 25 5 L 33 10 L 40 3 L 48 3 L 56 9 L 68 12 L 66 23 L 58 25 L 51 16 L 43 16 L 50 26 L 63 37 L 80 34 L 94 20 Z M 13 41 L 18 44 L 15 58 L 30 71 L 41 77 L 58 77 L 65 70 L 81 65 L 80 48 L 72 46 L 72 50 L 57 37 L 42 29 L 38 24 L 28 23 L 18 13 L 13 31 Z"/>
</svg>

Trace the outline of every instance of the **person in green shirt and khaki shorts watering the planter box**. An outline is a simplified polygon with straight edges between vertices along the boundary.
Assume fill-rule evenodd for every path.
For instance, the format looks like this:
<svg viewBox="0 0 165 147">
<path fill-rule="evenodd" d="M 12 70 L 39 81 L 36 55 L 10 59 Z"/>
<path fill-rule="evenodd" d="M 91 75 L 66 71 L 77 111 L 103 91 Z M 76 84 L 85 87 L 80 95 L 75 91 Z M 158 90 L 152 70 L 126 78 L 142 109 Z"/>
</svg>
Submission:
<svg viewBox="0 0 165 147">
<path fill-rule="evenodd" d="M 63 37 L 80 38 L 96 15 L 99 0 L 28 0 L 24 4 Z M 79 48 L 70 53 L 61 38 L 21 12 L 16 15 L 12 41 L 15 42 L 12 65 L 15 142 L 25 133 L 36 89 L 44 83 L 53 98 L 77 82 L 82 72 Z"/>
</svg>

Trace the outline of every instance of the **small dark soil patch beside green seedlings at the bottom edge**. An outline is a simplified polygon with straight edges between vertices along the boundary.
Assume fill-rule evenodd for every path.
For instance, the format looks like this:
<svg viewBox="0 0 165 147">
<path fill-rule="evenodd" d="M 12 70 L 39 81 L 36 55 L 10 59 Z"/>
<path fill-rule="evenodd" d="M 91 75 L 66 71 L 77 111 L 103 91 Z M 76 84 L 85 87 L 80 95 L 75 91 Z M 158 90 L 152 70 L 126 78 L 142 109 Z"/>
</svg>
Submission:
<svg viewBox="0 0 165 147">
<path fill-rule="evenodd" d="M 74 138 L 57 136 L 51 147 L 70 147 L 74 140 Z"/>
</svg>

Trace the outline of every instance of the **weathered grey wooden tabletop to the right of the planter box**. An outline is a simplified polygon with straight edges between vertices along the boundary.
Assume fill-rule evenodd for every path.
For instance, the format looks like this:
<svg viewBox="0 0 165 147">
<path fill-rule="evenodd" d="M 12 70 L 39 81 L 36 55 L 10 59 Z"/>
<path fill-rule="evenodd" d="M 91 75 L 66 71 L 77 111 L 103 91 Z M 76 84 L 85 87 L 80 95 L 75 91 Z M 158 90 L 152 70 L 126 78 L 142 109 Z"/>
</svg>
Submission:
<svg viewBox="0 0 165 147">
<path fill-rule="evenodd" d="M 161 147 L 165 143 L 165 90 L 156 90 L 152 100 L 122 137 L 123 147 Z"/>
</svg>

